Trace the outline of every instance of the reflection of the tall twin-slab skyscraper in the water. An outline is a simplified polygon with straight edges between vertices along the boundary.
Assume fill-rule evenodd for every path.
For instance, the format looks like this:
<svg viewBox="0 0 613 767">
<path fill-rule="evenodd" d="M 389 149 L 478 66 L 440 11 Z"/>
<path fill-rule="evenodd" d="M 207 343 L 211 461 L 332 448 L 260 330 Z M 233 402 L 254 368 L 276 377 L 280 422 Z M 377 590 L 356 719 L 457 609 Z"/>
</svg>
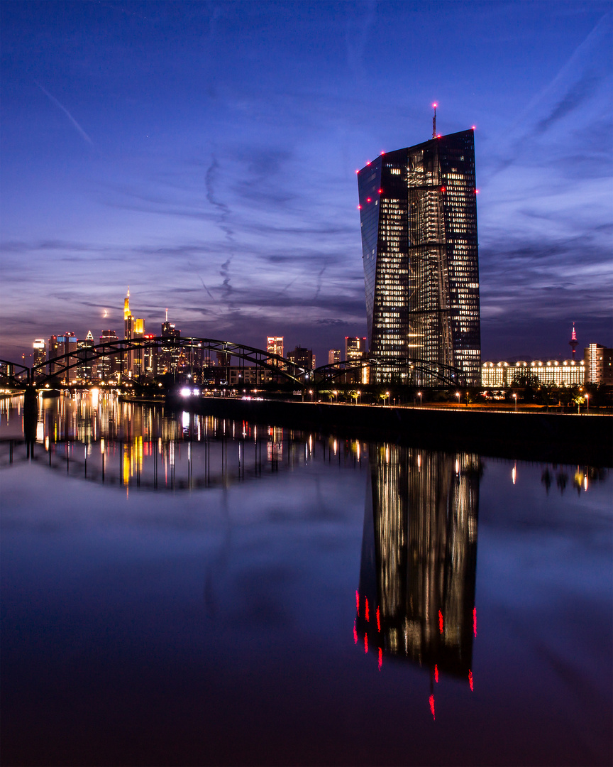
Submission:
<svg viewBox="0 0 613 767">
<path fill-rule="evenodd" d="M 479 459 L 390 445 L 370 460 L 356 638 L 471 679 Z"/>
</svg>

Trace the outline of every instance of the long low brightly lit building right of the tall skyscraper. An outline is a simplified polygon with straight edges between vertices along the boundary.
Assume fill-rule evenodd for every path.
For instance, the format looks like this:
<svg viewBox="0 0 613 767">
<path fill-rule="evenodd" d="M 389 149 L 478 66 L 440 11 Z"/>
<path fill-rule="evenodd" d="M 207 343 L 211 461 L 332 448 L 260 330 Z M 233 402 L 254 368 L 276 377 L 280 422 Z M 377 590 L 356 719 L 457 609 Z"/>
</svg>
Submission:
<svg viewBox="0 0 613 767">
<path fill-rule="evenodd" d="M 481 366 L 481 386 L 490 389 L 506 389 L 522 385 L 526 380 L 536 378 L 539 386 L 569 387 L 585 381 L 583 360 L 519 360 L 508 362 L 484 362 Z"/>
</svg>

